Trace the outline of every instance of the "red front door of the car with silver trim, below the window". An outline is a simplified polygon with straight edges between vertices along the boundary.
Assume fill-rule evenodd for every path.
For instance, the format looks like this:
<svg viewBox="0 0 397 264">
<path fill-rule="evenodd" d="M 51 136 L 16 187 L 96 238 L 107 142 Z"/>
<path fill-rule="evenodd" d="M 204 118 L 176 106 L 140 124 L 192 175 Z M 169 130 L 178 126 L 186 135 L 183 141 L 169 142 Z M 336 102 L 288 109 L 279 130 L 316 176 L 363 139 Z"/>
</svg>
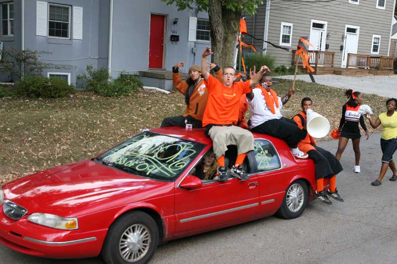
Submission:
<svg viewBox="0 0 397 264">
<path fill-rule="evenodd" d="M 176 236 L 192 235 L 258 218 L 257 177 L 204 181 L 197 189 L 176 184 Z"/>
</svg>

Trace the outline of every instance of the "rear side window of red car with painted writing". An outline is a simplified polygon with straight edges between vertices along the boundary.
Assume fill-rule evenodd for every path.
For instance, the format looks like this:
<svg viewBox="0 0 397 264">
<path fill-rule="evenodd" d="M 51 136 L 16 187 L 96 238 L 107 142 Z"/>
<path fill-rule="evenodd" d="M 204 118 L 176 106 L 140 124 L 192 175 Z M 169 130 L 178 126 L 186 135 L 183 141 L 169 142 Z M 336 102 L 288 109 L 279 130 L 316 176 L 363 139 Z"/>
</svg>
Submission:
<svg viewBox="0 0 397 264">
<path fill-rule="evenodd" d="M 278 158 L 277 152 L 268 140 L 255 140 L 254 155 L 259 171 L 281 168 L 281 161 Z"/>
</svg>

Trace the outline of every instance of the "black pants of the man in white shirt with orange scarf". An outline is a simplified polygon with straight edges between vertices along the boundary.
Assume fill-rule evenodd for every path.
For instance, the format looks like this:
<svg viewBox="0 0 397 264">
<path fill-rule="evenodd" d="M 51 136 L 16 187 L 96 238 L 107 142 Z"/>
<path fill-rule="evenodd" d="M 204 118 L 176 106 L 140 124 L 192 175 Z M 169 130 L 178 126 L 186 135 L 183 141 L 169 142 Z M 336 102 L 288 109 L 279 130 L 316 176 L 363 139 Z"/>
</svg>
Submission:
<svg viewBox="0 0 397 264">
<path fill-rule="evenodd" d="M 296 148 L 299 141 L 307 134 L 305 129 L 300 129 L 293 120 L 285 117 L 268 120 L 252 128 L 251 131 L 282 139 L 290 148 Z"/>
</svg>

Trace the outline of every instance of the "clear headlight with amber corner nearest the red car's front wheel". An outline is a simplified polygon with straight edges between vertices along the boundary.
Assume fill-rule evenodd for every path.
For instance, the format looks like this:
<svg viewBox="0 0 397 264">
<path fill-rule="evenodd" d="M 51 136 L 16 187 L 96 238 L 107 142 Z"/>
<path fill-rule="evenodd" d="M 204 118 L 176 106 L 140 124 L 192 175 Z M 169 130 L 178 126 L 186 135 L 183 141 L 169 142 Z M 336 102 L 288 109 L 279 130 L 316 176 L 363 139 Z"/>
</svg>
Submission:
<svg viewBox="0 0 397 264">
<path fill-rule="evenodd" d="M 78 229 L 77 218 L 65 218 L 50 213 L 32 213 L 28 216 L 28 221 L 56 229 Z"/>
</svg>

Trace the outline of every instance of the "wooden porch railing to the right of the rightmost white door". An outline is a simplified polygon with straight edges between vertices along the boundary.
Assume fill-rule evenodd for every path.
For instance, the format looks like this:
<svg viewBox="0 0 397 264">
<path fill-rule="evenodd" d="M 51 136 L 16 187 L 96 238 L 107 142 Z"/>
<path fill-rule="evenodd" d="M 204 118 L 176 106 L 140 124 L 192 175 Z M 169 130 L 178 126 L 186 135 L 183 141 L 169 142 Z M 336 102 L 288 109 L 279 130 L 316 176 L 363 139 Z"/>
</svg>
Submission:
<svg viewBox="0 0 397 264">
<path fill-rule="evenodd" d="M 346 68 L 355 67 L 366 69 L 393 70 L 393 60 L 393 57 L 347 53 Z"/>
</svg>

